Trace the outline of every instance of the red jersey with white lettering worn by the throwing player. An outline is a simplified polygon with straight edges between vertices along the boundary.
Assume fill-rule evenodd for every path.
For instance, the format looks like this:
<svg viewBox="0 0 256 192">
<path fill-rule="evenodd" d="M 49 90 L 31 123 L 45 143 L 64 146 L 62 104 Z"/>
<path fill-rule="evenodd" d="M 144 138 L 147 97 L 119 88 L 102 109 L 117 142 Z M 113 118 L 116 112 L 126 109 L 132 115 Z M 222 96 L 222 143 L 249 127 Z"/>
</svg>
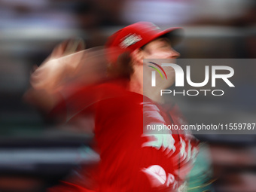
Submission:
<svg viewBox="0 0 256 192">
<path fill-rule="evenodd" d="M 178 191 L 195 160 L 197 141 L 178 130 L 143 132 L 147 125 L 181 126 L 177 106 L 163 108 L 117 82 L 82 87 L 51 113 L 65 114 L 69 122 L 93 114 L 101 158 L 93 191 Z M 65 183 L 50 191 L 88 190 Z"/>
</svg>

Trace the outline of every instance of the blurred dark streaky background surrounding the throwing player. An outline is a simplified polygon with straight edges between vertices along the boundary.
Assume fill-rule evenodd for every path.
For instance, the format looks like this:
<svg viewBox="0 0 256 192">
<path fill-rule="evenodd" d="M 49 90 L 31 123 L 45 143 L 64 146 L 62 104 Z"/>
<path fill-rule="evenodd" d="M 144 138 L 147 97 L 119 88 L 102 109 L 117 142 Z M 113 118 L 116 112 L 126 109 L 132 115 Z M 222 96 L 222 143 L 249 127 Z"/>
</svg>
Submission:
<svg viewBox="0 0 256 192">
<path fill-rule="evenodd" d="M 142 20 L 162 29 L 183 26 L 186 38 L 176 47 L 181 58 L 256 58 L 254 0 L 0 0 L 0 191 L 44 191 L 99 161 L 92 136 L 47 122 L 23 94 L 32 67 L 59 42 L 80 36 L 87 47 L 100 46 L 117 29 Z M 242 88 L 224 102 L 179 98 L 189 122 L 239 117 L 256 123 L 255 69 L 236 65 L 233 80 Z M 216 192 L 256 191 L 254 134 L 197 137 L 209 145 Z"/>
</svg>

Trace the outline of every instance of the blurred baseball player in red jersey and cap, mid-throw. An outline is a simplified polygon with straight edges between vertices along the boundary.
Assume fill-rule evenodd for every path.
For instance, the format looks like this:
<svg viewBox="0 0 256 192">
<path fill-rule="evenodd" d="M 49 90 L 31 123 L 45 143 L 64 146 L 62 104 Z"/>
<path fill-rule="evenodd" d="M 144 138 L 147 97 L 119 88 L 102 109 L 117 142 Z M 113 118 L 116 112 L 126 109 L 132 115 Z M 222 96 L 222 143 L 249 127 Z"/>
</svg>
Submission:
<svg viewBox="0 0 256 192">
<path fill-rule="evenodd" d="M 41 83 L 46 81 L 41 75 L 44 70 L 39 67 L 35 71 L 30 98 L 39 105 L 47 100 L 44 110 L 64 122 L 72 123 L 93 114 L 101 158 L 99 169 L 90 174 L 92 184 L 65 181 L 49 191 L 186 191 L 185 179 L 197 156 L 197 140 L 187 133 L 143 132 L 147 125 L 183 123 L 176 105 L 164 105 L 156 94 L 143 92 L 143 59 L 178 58 L 172 45 L 177 40 L 175 33 L 180 31 L 161 31 L 152 23 L 139 22 L 115 32 L 105 44 L 107 61 L 102 66 L 106 66 L 103 71 L 107 80 L 66 84 L 60 82 L 63 75 L 58 73 L 55 83 L 47 87 L 48 83 Z M 95 61 L 85 59 L 82 65 L 87 62 Z M 172 77 L 162 84 L 163 88 L 174 83 L 174 73 L 168 75 Z M 35 94 L 42 90 L 44 96 Z"/>
</svg>

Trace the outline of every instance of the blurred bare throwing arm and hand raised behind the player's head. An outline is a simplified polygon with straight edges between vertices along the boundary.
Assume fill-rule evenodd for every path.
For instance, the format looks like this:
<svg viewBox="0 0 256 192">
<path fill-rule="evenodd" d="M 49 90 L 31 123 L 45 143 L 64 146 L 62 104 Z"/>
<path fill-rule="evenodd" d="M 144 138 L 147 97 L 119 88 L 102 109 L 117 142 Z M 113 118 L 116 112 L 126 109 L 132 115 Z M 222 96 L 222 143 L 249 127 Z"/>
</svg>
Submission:
<svg viewBox="0 0 256 192">
<path fill-rule="evenodd" d="M 74 70 L 71 62 L 66 60 L 66 63 L 62 63 L 59 58 L 81 50 L 84 50 L 84 41 L 80 38 L 69 39 L 57 45 L 41 66 L 32 72 L 31 87 L 23 97 L 26 102 L 44 113 L 49 112 L 61 99 L 58 91 L 64 77 Z"/>
</svg>

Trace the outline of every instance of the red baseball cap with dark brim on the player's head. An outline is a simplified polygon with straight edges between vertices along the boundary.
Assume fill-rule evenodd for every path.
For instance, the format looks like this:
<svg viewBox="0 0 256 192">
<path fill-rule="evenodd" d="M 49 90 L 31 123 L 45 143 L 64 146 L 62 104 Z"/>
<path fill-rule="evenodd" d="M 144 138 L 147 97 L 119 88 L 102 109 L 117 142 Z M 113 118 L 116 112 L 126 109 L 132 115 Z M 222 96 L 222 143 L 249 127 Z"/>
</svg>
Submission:
<svg viewBox="0 0 256 192">
<path fill-rule="evenodd" d="M 162 31 L 153 23 L 138 22 L 126 26 L 111 35 L 105 47 L 115 50 L 114 53 L 108 56 L 111 62 L 115 62 L 120 54 L 125 52 L 131 53 L 133 50 L 139 49 L 156 38 L 169 38 L 172 46 L 175 46 L 175 44 L 181 41 L 183 35 L 184 30 L 180 27 L 169 28 Z"/>
</svg>

